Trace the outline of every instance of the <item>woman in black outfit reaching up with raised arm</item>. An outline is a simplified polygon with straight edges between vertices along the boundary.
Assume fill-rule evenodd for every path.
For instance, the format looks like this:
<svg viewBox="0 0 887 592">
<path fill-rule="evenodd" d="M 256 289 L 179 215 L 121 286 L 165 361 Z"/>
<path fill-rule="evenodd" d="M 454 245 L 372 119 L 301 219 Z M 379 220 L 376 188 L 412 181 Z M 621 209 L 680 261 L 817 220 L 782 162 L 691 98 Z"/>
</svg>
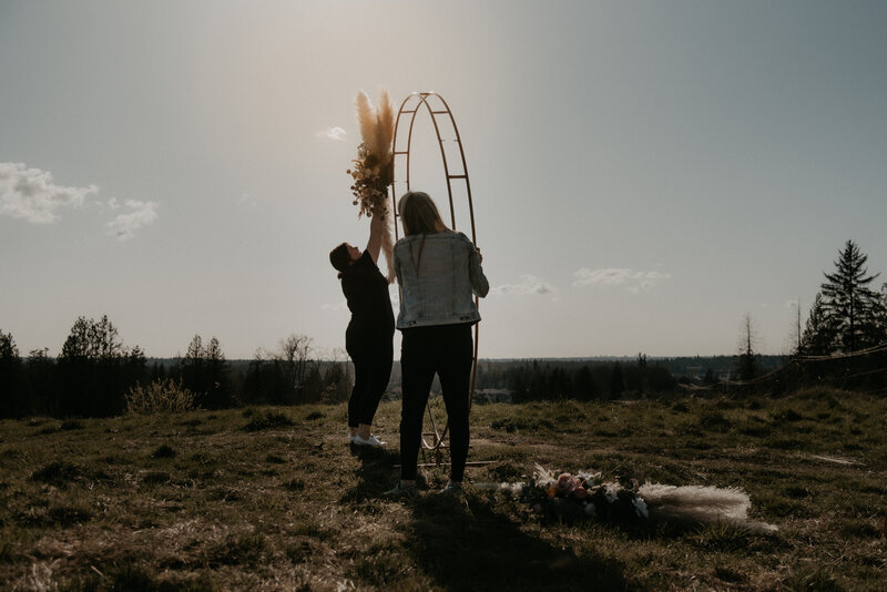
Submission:
<svg viewBox="0 0 887 592">
<path fill-rule="evenodd" d="M 379 400 L 388 386 L 394 363 L 395 317 L 388 280 L 376 262 L 381 249 L 384 222 L 370 218 L 369 241 L 360 253 L 343 243 L 329 253 L 329 262 L 339 272 L 341 292 L 351 312 L 345 331 L 345 349 L 354 361 L 355 382 L 348 400 L 348 440 L 357 446 L 380 447 L 370 427 Z"/>
</svg>

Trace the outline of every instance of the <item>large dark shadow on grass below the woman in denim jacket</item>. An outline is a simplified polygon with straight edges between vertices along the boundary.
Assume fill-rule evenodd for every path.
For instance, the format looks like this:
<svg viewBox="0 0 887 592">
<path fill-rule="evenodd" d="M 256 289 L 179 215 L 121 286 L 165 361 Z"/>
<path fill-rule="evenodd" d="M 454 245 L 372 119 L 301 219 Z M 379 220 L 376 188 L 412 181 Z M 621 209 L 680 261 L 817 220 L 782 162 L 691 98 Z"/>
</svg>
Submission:
<svg viewBox="0 0 887 592">
<path fill-rule="evenodd" d="M 622 562 L 553 544 L 488 499 L 425 494 L 410 504 L 405 549 L 442 590 L 626 590 Z"/>
</svg>

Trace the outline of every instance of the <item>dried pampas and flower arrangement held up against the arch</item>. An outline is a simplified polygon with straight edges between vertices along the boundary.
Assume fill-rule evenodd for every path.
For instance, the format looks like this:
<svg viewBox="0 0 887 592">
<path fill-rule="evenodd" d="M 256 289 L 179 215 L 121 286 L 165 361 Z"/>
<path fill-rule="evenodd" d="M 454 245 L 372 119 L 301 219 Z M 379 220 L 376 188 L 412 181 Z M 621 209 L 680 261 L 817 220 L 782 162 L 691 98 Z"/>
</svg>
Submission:
<svg viewBox="0 0 887 592">
<path fill-rule="evenodd" d="M 394 181 L 394 159 L 391 156 L 391 139 L 395 132 L 394 108 L 388 91 L 379 92 L 376 106 L 364 91 L 355 99 L 357 123 L 360 127 L 361 142 L 357 146 L 357 159 L 354 167 L 347 173 L 351 175 L 351 193 L 354 205 L 360 207 L 358 216 L 378 216 L 383 222 L 381 251 L 388 263 L 388 282 L 394 280 L 394 236 L 391 234 L 392 211 L 389 204 L 388 186 Z"/>
</svg>

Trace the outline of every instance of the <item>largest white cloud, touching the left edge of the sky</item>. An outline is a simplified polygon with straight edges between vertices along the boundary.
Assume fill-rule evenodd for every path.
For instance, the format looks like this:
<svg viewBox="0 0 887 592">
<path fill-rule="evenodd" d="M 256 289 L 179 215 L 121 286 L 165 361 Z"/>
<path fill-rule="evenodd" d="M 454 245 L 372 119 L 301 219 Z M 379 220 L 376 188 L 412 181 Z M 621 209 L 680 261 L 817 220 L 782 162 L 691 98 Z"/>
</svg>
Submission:
<svg viewBox="0 0 887 592">
<path fill-rule="evenodd" d="M 28 169 L 24 163 L 0 163 L 0 214 L 31 224 L 52 224 L 58 211 L 81 207 L 99 187 L 65 187 L 52 181 L 52 173 Z"/>
</svg>

